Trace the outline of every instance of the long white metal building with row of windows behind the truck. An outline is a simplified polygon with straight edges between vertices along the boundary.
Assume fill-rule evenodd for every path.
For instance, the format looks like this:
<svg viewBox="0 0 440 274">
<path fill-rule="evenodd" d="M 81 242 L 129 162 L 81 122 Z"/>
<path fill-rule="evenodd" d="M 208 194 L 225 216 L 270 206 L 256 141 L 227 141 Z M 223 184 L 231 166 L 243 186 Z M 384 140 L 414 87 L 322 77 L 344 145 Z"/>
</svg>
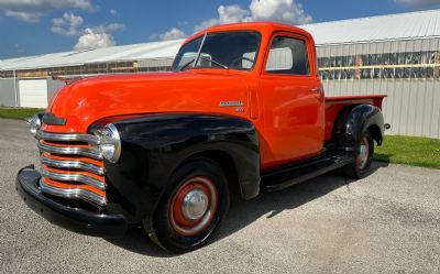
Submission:
<svg viewBox="0 0 440 274">
<path fill-rule="evenodd" d="M 386 94 L 392 134 L 440 138 L 440 10 L 302 25 L 327 95 Z M 44 107 L 56 75 L 167 70 L 183 40 L 0 61 L 0 106 Z M 389 133 L 389 132 L 388 132 Z"/>
</svg>

